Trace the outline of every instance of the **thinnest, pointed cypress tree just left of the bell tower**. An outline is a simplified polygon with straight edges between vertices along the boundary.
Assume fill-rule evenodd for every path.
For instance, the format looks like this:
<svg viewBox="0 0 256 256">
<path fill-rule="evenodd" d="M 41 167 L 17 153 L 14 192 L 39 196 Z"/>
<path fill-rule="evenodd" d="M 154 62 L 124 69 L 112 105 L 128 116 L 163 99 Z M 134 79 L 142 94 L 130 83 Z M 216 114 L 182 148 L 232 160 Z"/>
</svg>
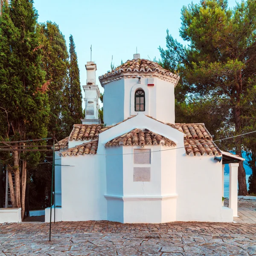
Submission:
<svg viewBox="0 0 256 256">
<path fill-rule="evenodd" d="M 80 74 L 79 67 L 77 62 L 77 55 L 75 49 L 75 43 L 73 40 L 73 36 L 70 35 L 70 63 L 69 63 L 69 105 L 68 109 L 70 112 L 70 116 L 72 119 L 72 123 L 70 123 L 70 131 L 74 124 L 80 124 L 81 118 L 83 117 L 82 110 L 82 93 L 81 93 L 81 85 L 80 85 Z"/>
</svg>

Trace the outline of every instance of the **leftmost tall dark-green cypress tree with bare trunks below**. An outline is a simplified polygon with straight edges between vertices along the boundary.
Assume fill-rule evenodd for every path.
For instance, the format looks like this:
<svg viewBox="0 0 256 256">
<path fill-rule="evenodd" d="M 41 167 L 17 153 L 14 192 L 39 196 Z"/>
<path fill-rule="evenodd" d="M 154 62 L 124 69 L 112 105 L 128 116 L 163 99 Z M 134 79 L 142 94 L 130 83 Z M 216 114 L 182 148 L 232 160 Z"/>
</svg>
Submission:
<svg viewBox="0 0 256 256">
<path fill-rule="evenodd" d="M 32 0 L 11 0 L 9 7 L 3 6 L 0 17 L 1 140 L 47 136 L 49 107 L 45 73 L 41 69 L 37 17 Z M 12 145 L 17 149 L 23 143 Z M 38 163 L 40 153 L 14 150 L 12 154 L 1 154 L 0 158 L 9 169 L 12 206 L 21 207 L 23 219 L 27 169 Z"/>
</svg>

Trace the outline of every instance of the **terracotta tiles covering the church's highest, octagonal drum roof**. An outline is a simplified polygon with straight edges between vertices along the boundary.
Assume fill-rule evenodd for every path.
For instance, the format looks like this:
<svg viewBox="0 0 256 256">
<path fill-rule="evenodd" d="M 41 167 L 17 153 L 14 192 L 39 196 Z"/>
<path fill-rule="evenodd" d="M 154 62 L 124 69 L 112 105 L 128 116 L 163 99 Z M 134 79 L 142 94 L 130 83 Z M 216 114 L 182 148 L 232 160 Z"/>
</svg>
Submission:
<svg viewBox="0 0 256 256">
<path fill-rule="evenodd" d="M 111 80 L 111 78 L 117 77 L 122 73 L 134 73 L 134 76 L 128 76 L 128 78 L 135 78 L 137 73 L 155 73 L 156 76 L 159 76 L 160 74 L 160 79 L 163 79 L 163 76 L 168 79 L 172 78 L 176 80 L 176 84 L 180 77 L 176 74 L 173 74 L 169 70 L 165 70 L 163 67 L 161 67 L 157 62 L 154 61 L 149 61 L 146 59 L 132 59 L 126 61 L 124 64 L 120 65 L 119 67 L 116 67 L 114 70 L 105 73 L 102 76 L 99 76 L 99 81 L 101 84 L 108 83 Z M 126 74 L 125 74 L 126 75 Z M 132 74 L 131 74 L 132 75 Z M 107 80 L 108 81 L 107 81 Z"/>
</svg>

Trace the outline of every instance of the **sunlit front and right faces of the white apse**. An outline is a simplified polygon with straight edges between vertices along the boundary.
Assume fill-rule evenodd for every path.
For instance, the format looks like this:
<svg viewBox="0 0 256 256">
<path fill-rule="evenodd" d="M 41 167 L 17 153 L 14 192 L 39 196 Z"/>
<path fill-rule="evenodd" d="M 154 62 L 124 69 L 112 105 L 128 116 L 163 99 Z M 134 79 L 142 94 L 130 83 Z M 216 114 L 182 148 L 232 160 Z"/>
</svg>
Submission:
<svg viewBox="0 0 256 256">
<path fill-rule="evenodd" d="M 143 164 L 134 164 L 134 154 L 131 153 L 136 148 L 140 148 L 140 146 L 123 146 L 123 152 L 126 154 L 123 156 L 124 222 L 163 223 L 175 221 L 176 157 L 175 150 L 169 150 L 175 147 L 163 145 L 145 145 L 143 147 L 143 149 L 151 149 L 149 182 L 134 182 L 133 180 L 133 167 L 144 166 Z"/>
</svg>

